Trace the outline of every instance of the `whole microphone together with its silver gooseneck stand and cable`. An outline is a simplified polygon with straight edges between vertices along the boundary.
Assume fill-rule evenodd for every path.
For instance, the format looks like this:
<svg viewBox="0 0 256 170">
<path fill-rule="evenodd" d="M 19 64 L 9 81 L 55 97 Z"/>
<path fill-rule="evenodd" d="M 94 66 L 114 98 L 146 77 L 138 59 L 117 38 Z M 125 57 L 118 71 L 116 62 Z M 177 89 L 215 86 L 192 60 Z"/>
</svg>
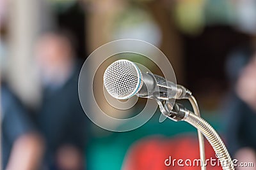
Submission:
<svg viewBox="0 0 256 170">
<path fill-rule="evenodd" d="M 234 170 L 234 163 L 227 151 L 226 146 L 218 133 L 203 118 L 200 117 L 197 103 L 191 92 L 182 85 L 176 85 L 172 81 L 166 81 L 163 77 L 152 73 L 142 73 L 134 62 L 129 60 L 116 60 L 110 64 L 103 76 L 104 86 L 108 93 L 116 99 L 129 99 L 137 95 L 157 99 L 159 109 L 164 116 L 174 121 L 186 121 L 202 132 L 205 138 L 212 145 L 216 154 L 221 155 L 218 158 L 221 167 L 227 170 Z M 170 103 L 168 99 L 189 99 L 193 101 L 193 108 L 196 108 L 195 114 L 182 106 L 182 104 Z M 195 109 L 194 109 L 195 110 Z M 200 157 L 205 169 L 204 156 L 204 138 L 200 140 Z"/>
</svg>

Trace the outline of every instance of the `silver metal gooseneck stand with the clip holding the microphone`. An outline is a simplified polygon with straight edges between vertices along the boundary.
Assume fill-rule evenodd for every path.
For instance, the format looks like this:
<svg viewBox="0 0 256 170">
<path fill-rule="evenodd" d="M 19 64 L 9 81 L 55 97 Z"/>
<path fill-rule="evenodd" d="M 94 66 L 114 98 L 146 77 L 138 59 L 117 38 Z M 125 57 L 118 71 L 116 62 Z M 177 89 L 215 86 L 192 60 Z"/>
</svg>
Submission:
<svg viewBox="0 0 256 170">
<path fill-rule="evenodd" d="M 191 104 L 197 114 L 200 114 L 198 111 L 198 106 L 193 98 L 194 97 L 189 98 L 189 101 L 191 101 Z M 222 169 L 234 170 L 234 164 L 226 146 L 210 124 L 208 124 L 203 118 L 195 115 L 195 113 L 192 111 L 184 108 L 182 104 L 175 103 L 174 106 L 172 106 L 173 104 L 166 100 L 159 100 L 157 103 L 159 104 L 161 113 L 163 113 L 163 115 L 166 117 L 174 120 L 175 122 L 180 120 L 186 121 L 204 134 L 205 138 L 209 141 L 214 149 L 214 152 L 216 155 L 218 155 L 218 160 L 220 161 Z M 204 160 L 202 160 L 202 162 L 204 162 Z M 202 167 L 203 166 L 206 165 L 203 164 Z"/>
</svg>

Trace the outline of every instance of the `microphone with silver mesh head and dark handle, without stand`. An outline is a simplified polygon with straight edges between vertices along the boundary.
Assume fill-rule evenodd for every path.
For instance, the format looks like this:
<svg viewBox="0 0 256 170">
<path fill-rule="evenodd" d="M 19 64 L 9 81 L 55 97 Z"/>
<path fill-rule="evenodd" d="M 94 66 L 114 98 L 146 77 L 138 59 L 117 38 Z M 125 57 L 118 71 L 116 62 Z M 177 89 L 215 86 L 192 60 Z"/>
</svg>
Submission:
<svg viewBox="0 0 256 170">
<path fill-rule="evenodd" d="M 142 73 L 130 60 L 116 60 L 103 76 L 104 86 L 116 99 L 129 99 L 137 95 L 150 99 L 188 99 L 191 92 L 182 85 L 166 81 L 162 76 Z"/>
</svg>

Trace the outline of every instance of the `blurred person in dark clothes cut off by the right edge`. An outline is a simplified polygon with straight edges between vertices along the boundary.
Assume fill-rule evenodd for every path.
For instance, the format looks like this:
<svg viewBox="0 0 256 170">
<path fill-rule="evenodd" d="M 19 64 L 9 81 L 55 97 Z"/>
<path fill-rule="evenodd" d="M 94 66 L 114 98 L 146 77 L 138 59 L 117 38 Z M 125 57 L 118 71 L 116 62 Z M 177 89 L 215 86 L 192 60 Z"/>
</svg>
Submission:
<svg viewBox="0 0 256 170">
<path fill-rule="evenodd" d="M 239 162 L 253 162 L 256 166 L 256 53 L 240 72 L 236 94 L 228 105 L 227 146 Z"/>
</svg>

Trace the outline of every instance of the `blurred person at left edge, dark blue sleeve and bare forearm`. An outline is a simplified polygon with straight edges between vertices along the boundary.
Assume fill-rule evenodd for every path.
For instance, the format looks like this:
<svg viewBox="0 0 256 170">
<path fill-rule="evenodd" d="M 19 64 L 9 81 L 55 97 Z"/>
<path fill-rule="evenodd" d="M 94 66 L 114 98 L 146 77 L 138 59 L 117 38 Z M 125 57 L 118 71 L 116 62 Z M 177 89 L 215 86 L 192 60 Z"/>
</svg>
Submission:
<svg viewBox="0 0 256 170">
<path fill-rule="evenodd" d="M 39 169 L 44 142 L 36 132 L 28 111 L 1 82 L 1 159 L 2 169 Z"/>
</svg>

